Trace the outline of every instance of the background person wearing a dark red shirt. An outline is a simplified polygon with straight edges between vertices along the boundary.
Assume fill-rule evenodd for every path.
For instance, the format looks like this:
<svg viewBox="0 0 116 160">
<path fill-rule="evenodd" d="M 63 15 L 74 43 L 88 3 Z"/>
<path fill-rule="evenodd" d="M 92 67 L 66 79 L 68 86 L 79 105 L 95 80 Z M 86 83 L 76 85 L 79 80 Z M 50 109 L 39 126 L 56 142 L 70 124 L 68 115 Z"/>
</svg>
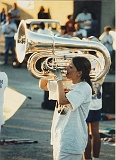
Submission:
<svg viewBox="0 0 116 160">
<path fill-rule="evenodd" d="M 70 36 L 73 35 L 73 32 L 75 31 L 75 21 L 73 20 L 73 15 L 67 16 L 68 21 L 66 22 L 66 33 L 68 33 Z"/>
</svg>

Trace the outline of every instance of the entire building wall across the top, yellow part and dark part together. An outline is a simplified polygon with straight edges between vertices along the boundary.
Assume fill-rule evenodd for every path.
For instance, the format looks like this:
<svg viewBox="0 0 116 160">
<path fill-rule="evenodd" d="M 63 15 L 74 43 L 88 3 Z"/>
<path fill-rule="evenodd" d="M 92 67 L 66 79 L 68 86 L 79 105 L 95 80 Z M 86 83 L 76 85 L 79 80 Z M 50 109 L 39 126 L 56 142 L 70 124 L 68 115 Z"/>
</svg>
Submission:
<svg viewBox="0 0 116 160">
<path fill-rule="evenodd" d="M 3 7 L 8 11 L 14 2 L 18 4 L 18 8 L 21 10 L 21 19 L 37 18 L 40 6 L 44 6 L 46 12 L 48 9 L 50 10 L 51 18 L 58 20 L 61 25 L 64 25 L 67 21 L 67 15 L 74 13 L 74 16 L 76 16 L 82 5 L 88 5 L 91 12 L 97 13 L 100 34 L 103 32 L 105 25 L 114 28 L 115 0 L 1 0 L 0 11 Z"/>
</svg>

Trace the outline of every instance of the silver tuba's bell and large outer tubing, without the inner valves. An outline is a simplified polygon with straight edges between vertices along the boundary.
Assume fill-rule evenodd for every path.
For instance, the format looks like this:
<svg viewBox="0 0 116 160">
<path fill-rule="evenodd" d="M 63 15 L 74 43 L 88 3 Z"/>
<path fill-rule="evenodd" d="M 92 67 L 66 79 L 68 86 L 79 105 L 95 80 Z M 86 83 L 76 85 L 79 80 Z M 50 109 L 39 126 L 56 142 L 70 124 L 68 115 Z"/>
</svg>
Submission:
<svg viewBox="0 0 116 160">
<path fill-rule="evenodd" d="M 44 66 L 47 66 L 47 68 L 43 67 L 42 71 L 37 70 L 36 63 L 41 58 L 47 59 L 48 57 L 63 57 L 68 54 L 69 57 L 81 56 L 78 54 L 79 51 L 81 51 L 83 56 L 87 58 L 88 56 L 84 54 L 85 51 L 95 51 L 103 60 L 103 67 L 101 67 L 102 70 L 99 72 L 99 74 L 97 74 L 97 77 L 94 75 L 94 78 L 92 79 L 93 81 L 98 81 L 107 74 L 111 65 L 111 59 L 109 51 L 101 42 L 87 40 L 84 41 L 74 38 L 60 38 L 53 35 L 49 36 L 38 34 L 27 29 L 24 20 L 21 20 L 19 24 L 16 38 L 17 59 L 21 63 L 23 62 L 26 54 L 31 53 L 31 57 L 27 62 L 27 68 L 29 72 L 36 78 L 41 78 L 44 76 L 49 77 L 50 75 L 49 67 L 45 61 Z M 45 70 L 48 69 L 49 71 L 45 72 L 44 68 Z"/>
</svg>

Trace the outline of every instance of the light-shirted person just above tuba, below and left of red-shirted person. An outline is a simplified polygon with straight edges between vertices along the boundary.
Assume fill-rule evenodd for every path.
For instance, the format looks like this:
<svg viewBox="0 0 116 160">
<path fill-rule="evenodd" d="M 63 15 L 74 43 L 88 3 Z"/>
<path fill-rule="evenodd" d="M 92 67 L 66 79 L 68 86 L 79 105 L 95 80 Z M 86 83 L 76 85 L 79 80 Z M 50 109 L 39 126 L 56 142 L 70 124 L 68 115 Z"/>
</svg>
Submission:
<svg viewBox="0 0 116 160">
<path fill-rule="evenodd" d="M 60 33 L 56 34 L 55 37 L 71 38 L 71 35 L 66 33 L 66 26 L 61 26 Z"/>
</svg>

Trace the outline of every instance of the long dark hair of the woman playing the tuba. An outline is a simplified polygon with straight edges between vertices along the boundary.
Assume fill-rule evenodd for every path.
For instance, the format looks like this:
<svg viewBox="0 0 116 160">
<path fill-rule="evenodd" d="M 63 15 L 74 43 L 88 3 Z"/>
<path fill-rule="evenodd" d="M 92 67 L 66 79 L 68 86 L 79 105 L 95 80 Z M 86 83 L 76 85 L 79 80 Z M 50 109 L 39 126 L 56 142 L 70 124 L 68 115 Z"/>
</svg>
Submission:
<svg viewBox="0 0 116 160">
<path fill-rule="evenodd" d="M 72 59 L 74 66 L 76 67 L 77 71 L 82 71 L 81 79 L 85 80 L 92 88 L 92 94 L 94 94 L 91 78 L 89 76 L 91 71 L 91 63 L 85 57 L 74 57 Z"/>
</svg>

